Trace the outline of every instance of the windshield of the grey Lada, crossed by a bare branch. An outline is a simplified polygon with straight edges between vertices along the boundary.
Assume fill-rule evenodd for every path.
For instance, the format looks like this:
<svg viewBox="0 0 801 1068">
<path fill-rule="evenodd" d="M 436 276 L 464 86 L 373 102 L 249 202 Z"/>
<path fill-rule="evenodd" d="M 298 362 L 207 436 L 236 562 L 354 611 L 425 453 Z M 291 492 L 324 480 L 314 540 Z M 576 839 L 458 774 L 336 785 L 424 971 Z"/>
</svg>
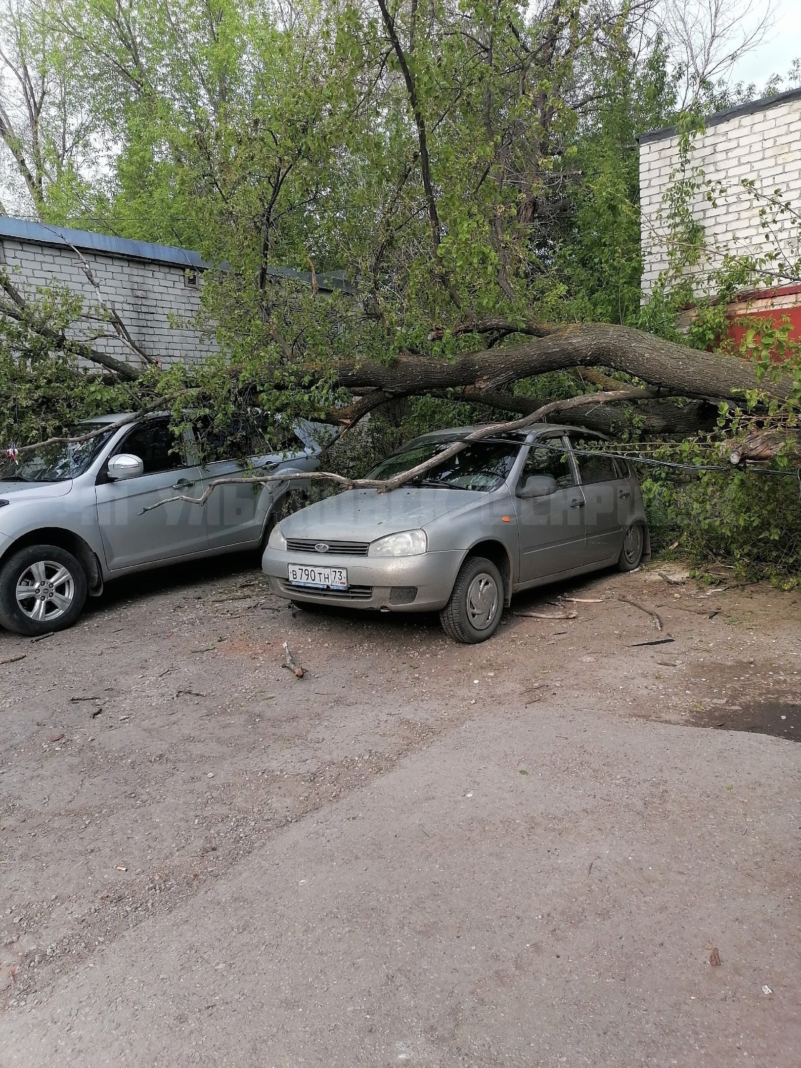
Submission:
<svg viewBox="0 0 801 1068">
<path fill-rule="evenodd" d="M 431 459 L 454 442 L 421 441 L 388 457 L 370 473 L 371 478 L 392 478 Z M 426 471 L 413 485 L 438 486 L 443 489 L 477 489 L 489 492 L 506 480 L 512 465 L 520 452 L 514 442 L 475 441 L 460 453 Z"/>
</svg>

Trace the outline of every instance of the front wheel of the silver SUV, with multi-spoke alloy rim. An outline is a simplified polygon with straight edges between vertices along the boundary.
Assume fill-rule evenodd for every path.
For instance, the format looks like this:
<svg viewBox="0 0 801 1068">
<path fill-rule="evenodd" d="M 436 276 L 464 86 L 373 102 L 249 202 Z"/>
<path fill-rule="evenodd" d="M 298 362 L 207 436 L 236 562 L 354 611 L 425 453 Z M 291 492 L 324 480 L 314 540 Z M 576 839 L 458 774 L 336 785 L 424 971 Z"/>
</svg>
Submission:
<svg viewBox="0 0 801 1068">
<path fill-rule="evenodd" d="M 20 587 L 30 588 L 30 596 L 20 596 Z M 15 634 L 35 638 L 64 630 L 81 614 L 85 600 L 83 568 L 57 545 L 26 546 L 0 569 L 0 624 Z"/>
</svg>

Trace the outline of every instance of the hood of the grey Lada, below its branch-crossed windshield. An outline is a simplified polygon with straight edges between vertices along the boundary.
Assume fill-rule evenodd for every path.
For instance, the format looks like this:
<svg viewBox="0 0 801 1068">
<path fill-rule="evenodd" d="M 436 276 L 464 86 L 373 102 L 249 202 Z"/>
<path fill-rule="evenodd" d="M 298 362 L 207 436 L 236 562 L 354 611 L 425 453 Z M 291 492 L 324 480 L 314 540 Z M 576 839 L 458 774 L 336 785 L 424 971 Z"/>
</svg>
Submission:
<svg viewBox="0 0 801 1068">
<path fill-rule="evenodd" d="M 476 490 L 427 486 L 402 487 L 389 493 L 348 489 L 282 519 L 281 533 L 288 538 L 375 541 L 386 534 L 425 527 L 449 512 L 486 499 L 486 493 Z"/>
</svg>

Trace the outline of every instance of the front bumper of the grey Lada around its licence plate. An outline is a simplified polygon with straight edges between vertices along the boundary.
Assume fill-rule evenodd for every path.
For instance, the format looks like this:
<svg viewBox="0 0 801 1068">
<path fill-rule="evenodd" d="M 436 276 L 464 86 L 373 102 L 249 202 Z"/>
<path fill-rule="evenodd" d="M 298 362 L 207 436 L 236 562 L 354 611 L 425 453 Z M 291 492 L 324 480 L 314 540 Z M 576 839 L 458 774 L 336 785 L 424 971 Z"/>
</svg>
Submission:
<svg viewBox="0 0 801 1068">
<path fill-rule="evenodd" d="M 262 570 L 270 590 L 287 600 L 343 608 L 368 608 L 390 612 L 430 612 L 447 603 L 465 553 L 423 552 L 419 556 L 346 556 L 326 553 L 325 563 L 345 567 L 347 591 L 310 590 L 289 585 L 289 564 L 317 566 L 318 553 L 265 549 Z"/>
</svg>

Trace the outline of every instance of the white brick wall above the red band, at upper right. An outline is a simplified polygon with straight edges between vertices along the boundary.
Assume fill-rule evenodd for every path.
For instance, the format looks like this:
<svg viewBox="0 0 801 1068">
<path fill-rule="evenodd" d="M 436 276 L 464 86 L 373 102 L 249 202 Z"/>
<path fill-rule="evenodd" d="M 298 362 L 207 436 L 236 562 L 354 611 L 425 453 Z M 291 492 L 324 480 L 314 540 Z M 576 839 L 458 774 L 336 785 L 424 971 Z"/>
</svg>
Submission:
<svg viewBox="0 0 801 1068">
<path fill-rule="evenodd" d="M 661 271 L 668 268 L 668 232 L 663 198 L 679 163 L 678 138 L 669 132 L 640 144 L 641 240 L 643 250 L 643 301 L 647 300 Z M 700 190 L 692 204 L 693 217 L 705 230 L 706 256 L 694 268 L 705 273 L 720 265 L 726 251 L 759 255 L 775 248 L 766 245 L 759 224 L 759 206 L 741 186 L 753 180 L 764 194 L 782 190 L 782 198 L 801 213 L 801 95 L 766 105 L 747 114 L 733 114 L 707 126 L 695 137 L 690 168 L 702 168 L 704 177 L 721 183 L 725 193 L 717 206 Z M 798 258 L 798 222 L 784 218 L 775 229 L 775 240 L 790 261 Z"/>
</svg>

